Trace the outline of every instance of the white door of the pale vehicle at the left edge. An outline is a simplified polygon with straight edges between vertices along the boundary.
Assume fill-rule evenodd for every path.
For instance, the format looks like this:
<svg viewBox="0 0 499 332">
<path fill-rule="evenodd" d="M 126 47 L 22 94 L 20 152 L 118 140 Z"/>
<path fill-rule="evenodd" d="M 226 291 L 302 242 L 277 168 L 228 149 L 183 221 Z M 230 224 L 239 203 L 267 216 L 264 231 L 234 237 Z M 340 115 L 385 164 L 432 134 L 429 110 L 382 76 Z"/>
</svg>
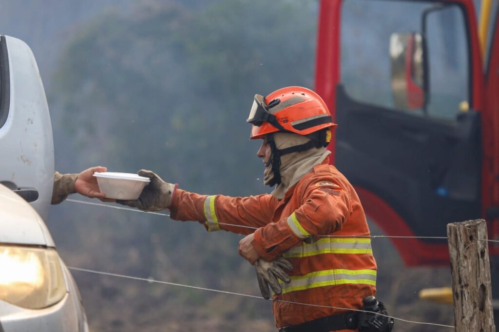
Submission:
<svg viewBox="0 0 499 332">
<path fill-rule="evenodd" d="M 0 156 L 0 182 L 46 220 L 54 172 L 47 100 L 33 53 L 9 36 L 0 36 Z"/>
</svg>

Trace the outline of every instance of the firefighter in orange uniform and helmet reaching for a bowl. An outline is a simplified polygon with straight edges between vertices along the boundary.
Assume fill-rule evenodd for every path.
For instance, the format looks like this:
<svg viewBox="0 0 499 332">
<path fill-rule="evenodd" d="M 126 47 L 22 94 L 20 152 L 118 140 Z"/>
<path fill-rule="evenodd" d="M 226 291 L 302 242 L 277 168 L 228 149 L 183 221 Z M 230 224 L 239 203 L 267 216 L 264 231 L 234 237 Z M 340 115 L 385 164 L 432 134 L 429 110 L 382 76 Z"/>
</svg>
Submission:
<svg viewBox="0 0 499 332">
<path fill-rule="evenodd" d="M 359 197 L 329 165 L 325 147 L 336 124 L 327 106 L 309 89 L 287 87 L 255 95 L 247 121 L 250 138 L 263 139 L 257 156 L 265 164 L 264 183 L 276 185 L 271 194 L 201 195 L 141 170 L 151 182 L 140 198 L 118 202 L 168 208 L 174 220 L 247 235 L 239 252 L 255 265 L 263 297 L 270 296 L 269 284 L 272 299 L 284 301 L 272 303 L 280 331 L 357 331 L 357 313 L 345 309 L 362 309 L 363 299 L 375 295 L 376 262 Z"/>
</svg>

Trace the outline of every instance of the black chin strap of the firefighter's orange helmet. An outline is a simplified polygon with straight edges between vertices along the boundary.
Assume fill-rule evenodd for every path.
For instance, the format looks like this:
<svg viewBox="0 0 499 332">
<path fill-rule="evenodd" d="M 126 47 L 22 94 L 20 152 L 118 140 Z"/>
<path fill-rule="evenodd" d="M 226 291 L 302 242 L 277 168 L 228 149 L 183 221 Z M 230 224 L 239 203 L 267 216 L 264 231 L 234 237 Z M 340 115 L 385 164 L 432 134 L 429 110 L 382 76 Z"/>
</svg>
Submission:
<svg viewBox="0 0 499 332">
<path fill-rule="evenodd" d="M 328 143 L 325 143 L 325 131 L 322 133 L 316 132 L 311 135 L 307 135 L 308 138 L 310 138 L 310 141 L 304 144 L 296 145 L 294 147 L 289 147 L 285 149 L 277 149 L 277 146 L 275 145 L 275 140 L 274 140 L 274 135 L 273 134 L 267 134 L 266 140 L 267 143 L 270 145 L 270 158 L 268 159 L 267 164 L 265 164 L 265 167 L 268 167 L 272 165 L 272 173 L 274 174 L 273 178 L 270 180 L 268 183 L 269 186 L 273 187 L 276 184 L 281 183 L 281 175 L 280 175 L 280 166 L 281 166 L 281 156 L 287 155 L 293 152 L 302 152 L 302 151 L 307 151 L 312 148 L 320 148 L 320 147 L 326 147 Z"/>
</svg>

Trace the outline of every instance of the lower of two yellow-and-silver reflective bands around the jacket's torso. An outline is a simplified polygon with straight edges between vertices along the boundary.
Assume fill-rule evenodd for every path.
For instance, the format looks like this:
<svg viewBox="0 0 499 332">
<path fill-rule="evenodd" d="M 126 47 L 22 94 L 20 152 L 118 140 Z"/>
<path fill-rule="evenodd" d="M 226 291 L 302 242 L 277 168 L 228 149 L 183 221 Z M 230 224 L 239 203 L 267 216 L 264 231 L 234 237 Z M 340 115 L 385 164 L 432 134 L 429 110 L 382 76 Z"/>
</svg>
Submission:
<svg viewBox="0 0 499 332">
<path fill-rule="evenodd" d="M 307 273 L 304 276 L 291 276 L 291 282 L 285 284 L 279 280 L 282 294 L 303 291 L 310 288 L 345 284 L 376 286 L 376 270 L 334 269 Z"/>
</svg>

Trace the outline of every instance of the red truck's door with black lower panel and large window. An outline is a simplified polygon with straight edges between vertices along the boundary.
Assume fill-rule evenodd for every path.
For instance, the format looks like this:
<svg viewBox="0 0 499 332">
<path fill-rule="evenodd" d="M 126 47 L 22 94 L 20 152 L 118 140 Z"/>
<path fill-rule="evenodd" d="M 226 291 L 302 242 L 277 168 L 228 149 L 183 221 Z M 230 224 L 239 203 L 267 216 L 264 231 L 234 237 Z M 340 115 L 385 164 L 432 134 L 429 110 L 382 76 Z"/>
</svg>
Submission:
<svg viewBox="0 0 499 332">
<path fill-rule="evenodd" d="M 336 113 L 335 165 L 368 216 L 404 236 L 446 236 L 447 223 L 480 218 L 483 72 L 471 1 L 321 9 L 339 32 L 327 37 L 321 12 L 316 89 Z M 407 265 L 448 264 L 445 240 L 393 242 Z"/>
</svg>

